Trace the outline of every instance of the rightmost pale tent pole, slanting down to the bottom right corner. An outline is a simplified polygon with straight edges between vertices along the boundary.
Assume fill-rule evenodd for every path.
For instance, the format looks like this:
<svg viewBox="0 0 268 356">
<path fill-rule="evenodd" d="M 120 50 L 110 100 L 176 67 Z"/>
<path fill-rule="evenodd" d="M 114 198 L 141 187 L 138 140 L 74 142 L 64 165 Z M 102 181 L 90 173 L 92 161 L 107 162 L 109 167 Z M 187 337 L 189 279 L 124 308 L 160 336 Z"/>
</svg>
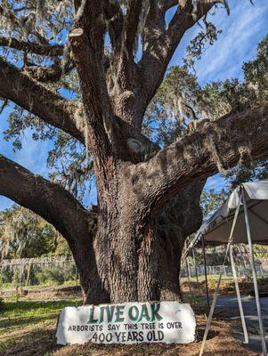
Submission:
<svg viewBox="0 0 268 356">
<path fill-rule="evenodd" d="M 249 260 L 250 260 L 250 265 L 251 265 L 251 270 L 252 270 L 252 277 L 253 277 L 255 297 L 256 297 L 256 311 L 257 311 L 258 320 L 259 320 L 260 335 L 262 337 L 263 355 L 267 356 L 265 336 L 264 336 L 264 325 L 263 325 L 260 297 L 259 297 L 259 291 L 258 291 L 258 285 L 257 285 L 257 279 L 256 279 L 256 265 L 255 265 L 253 245 L 252 245 L 252 239 L 251 239 L 251 233 L 250 233 L 250 225 L 249 225 L 249 219 L 248 219 L 248 206 L 247 206 L 244 188 L 242 190 L 242 194 L 243 194 L 245 223 L 246 223 L 247 236 L 248 236 Z"/>
</svg>

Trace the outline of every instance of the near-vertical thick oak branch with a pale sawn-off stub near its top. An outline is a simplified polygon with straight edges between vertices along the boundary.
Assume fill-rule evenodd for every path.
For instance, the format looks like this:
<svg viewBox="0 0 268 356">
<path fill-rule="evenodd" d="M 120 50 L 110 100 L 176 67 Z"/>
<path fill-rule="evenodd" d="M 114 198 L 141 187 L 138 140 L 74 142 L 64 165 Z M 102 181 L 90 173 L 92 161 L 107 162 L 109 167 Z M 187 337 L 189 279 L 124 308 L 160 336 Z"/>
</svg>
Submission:
<svg viewBox="0 0 268 356">
<path fill-rule="evenodd" d="M 95 167 L 103 170 L 110 156 L 112 117 L 104 71 L 105 20 L 103 1 L 75 2 L 77 20 L 69 33 L 88 128 L 88 144 Z M 102 172 L 103 173 L 103 172 Z M 104 173 L 103 173 L 104 174 Z"/>
</svg>

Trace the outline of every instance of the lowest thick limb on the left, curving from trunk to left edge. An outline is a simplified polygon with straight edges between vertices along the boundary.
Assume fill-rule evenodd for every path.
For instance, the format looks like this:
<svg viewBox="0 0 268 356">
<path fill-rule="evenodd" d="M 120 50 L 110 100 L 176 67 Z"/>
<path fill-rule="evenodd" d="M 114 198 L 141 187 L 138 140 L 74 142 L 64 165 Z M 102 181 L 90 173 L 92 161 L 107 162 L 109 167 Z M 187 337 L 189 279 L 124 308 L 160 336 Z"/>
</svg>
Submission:
<svg viewBox="0 0 268 356">
<path fill-rule="evenodd" d="M 67 190 L 0 154 L 0 195 L 42 216 L 70 240 L 90 236 L 96 214 L 88 212 Z M 76 231 L 77 230 L 77 231 Z M 81 236 L 82 238 L 82 236 Z"/>
</svg>

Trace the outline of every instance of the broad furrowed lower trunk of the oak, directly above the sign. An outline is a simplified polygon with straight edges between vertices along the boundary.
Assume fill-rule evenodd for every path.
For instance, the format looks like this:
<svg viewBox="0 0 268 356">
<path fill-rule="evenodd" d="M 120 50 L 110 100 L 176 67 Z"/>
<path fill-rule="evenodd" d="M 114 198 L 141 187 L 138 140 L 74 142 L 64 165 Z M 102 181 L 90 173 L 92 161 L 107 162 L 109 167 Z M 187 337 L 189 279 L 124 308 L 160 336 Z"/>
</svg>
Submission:
<svg viewBox="0 0 268 356">
<path fill-rule="evenodd" d="M 203 185 L 203 180 L 195 182 L 158 213 L 150 202 L 142 201 L 125 174 L 124 180 L 114 178 L 110 182 L 113 198 L 99 201 L 93 241 L 98 277 L 93 289 L 89 287 L 85 303 L 180 300 L 183 243 L 201 223 Z M 92 271 L 88 273 L 92 275 Z M 87 279 L 85 272 L 83 275 Z"/>
</svg>

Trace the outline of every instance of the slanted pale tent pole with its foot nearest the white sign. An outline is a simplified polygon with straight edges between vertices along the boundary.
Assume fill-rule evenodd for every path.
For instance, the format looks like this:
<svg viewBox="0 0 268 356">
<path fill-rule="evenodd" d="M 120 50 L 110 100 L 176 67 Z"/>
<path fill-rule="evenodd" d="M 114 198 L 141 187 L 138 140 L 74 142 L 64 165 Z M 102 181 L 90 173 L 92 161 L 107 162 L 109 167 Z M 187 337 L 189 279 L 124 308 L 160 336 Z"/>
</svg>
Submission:
<svg viewBox="0 0 268 356">
<path fill-rule="evenodd" d="M 206 344 L 206 341 L 207 341 L 207 334 L 208 334 L 208 330 L 209 330 L 210 325 L 211 325 L 211 320 L 212 320 L 213 313 L 214 313 L 214 310 L 215 310 L 215 303 L 216 303 L 216 300 L 217 300 L 217 295 L 218 295 L 218 291 L 219 291 L 219 288 L 220 288 L 221 280 L 222 280 L 222 277 L 223 277 L 223 269 L 224 269 L 224 266 L 225 266 L 225 261 L 226 261 L 227 255 L 229 254 L 229 249 L 230 249 L 230 246 L 231 246 L 232 240 L 233 240 L 233 231 L 234 231 L 234 228 L 235 228 L 235 225 L 236 225 L 236 222 L 237 222 L 237 219 L 238 219 L 238 215 L 239 215 L 239 212 L 240 212 L 240 202 L 241 202 L 241 195 L 240 195 L 240 198 L 239 198 L 238 206 L 237 206 L 237 208 L 235 210 L 233 222 L 231 224 L 231 231 L 230 231 L 230 236 L 229 236 L 229 239 L 228 239 L 228 244 L 227 244 L 227 247 L 226 247 L 226 250 L 225 250 L 225 255 L 224 255 L 223 264 L 222 264 L 222 270 L 221 270 L 221 273 L 219 275 L 219 278 L 218 278 L 218 281 L 217 281 L 217 284 L 216 284 L 216 287 L 215 287 L 215 293 L 214 293 L 213 301 L 212 301 L 212 304 L 211 304 L 211 307 L 210 307 L 210 311 L 209 311 L 209 314 L 208 314 L 208 317 L 207 317 L 207 325 L 206 325 L 206 328 L 205 328 L 205 332 L 204 332 L 204 336 L 203 336 L 203 340 L 202 340 L 199 356 L 202 356 L 202 354 L 204 352 L 205 344 Z"/>
</svg>

